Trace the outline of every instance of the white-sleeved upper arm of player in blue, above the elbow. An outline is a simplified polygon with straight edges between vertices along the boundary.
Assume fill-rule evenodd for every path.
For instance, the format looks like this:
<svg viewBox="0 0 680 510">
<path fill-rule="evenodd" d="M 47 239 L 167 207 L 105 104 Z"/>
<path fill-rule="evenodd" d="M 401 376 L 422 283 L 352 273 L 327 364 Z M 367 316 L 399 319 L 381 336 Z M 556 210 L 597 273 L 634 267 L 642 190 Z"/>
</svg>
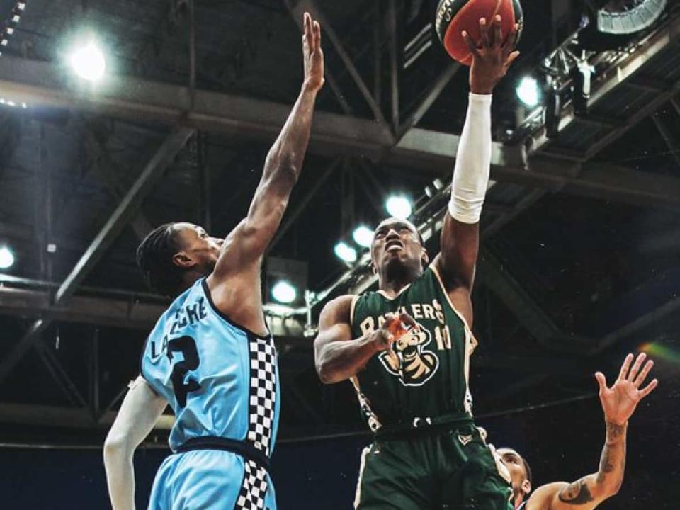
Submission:
<svg viewBox="0 0 680 510">
<path fill-rule="evenodd" d="M 152 431 L 167 404 L 166 399 L 157 395 L 140 375 L 130 385 L 107 441 L 125 443 L 130 448 L 136 448 Z"/>
</svg>

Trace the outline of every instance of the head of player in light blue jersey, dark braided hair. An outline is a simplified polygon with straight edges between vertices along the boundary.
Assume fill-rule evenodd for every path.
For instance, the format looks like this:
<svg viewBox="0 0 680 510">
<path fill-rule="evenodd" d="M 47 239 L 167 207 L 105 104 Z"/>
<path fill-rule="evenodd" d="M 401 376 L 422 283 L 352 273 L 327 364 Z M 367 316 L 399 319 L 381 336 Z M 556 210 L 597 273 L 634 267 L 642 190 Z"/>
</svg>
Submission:
<svg viewBox="0 0 680 510">
<path fill-rule="evenodd" d="M 137 264 L 150 288 L 174 297 L 201 276 L 212 273 L 222 242 L 198 225 L 166 223 L 137 248 Z"/>
</svg>

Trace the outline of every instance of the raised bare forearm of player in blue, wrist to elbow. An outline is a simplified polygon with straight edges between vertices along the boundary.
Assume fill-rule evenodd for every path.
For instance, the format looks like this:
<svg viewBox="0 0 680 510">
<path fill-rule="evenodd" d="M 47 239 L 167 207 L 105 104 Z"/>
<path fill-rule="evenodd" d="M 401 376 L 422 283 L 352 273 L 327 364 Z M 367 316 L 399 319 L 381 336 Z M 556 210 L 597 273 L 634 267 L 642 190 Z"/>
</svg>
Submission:
<svg viewBox="0 0 680 510">
<path fill-rule="evenodd" d="M 264 179 L 277 179 L 278 174 L 293 172 L 293 184 L 300 176 L 307 145 L 310 142 L 314 103 L 318 92 L 303 85 L 293 110 L 288 115 L 276 142 L 267 154 Z M 284 178 L 287 176 L 283 176 Z M 292 189 L 292 184 L 290 189 Z"/>
</svg>

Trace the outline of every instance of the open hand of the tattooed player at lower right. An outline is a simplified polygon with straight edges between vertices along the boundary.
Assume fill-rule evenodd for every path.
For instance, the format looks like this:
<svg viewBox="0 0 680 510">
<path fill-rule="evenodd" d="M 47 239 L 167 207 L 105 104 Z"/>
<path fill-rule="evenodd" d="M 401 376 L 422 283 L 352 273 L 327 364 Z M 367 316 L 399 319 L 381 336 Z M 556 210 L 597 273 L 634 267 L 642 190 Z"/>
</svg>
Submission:
<svg viewBox="0 0 680 510">
<path fill-rule="evenodd" d="M 633 354 L 628 354 L 625 357 L 621 366 L 621 373 L 619 373 L 618 379 L 611 388 L 607 387 L 607 380 L 603 373 L 595 374 L 600 386 L 599 397 L 607 423 L 624 425 L 635 412 L 635 407 L 638 407 L 640 400 L 647 397 L 659 384 L 659 381 L 655 379 L 640 390 L 640 386 L 642 386 L 642 382 L 645 382 L 654 362 L 647 361 L 645 367 L 642 368 L 642 363 L 645 362 L 647 357 L 645 353 L 642 353 L 631 368 L 630 363 L 633 362 L 633 357 Z"/>
</svg>

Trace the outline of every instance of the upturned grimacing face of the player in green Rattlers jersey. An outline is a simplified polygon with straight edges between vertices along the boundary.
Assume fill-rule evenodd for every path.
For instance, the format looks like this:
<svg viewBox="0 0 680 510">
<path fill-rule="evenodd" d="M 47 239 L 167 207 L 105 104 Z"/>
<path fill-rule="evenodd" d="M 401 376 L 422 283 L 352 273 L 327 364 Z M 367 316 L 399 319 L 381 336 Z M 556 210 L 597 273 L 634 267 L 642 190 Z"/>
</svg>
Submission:
<svg viewBox="0 0 680 510">
<path fill-rule="evenodd" d="M 401 262 L 420 266 L 424 249 L 416 228 L 409 222 L 390 218 L 373 232 L 371 256 L 377 268 Z"/>
</svg>

